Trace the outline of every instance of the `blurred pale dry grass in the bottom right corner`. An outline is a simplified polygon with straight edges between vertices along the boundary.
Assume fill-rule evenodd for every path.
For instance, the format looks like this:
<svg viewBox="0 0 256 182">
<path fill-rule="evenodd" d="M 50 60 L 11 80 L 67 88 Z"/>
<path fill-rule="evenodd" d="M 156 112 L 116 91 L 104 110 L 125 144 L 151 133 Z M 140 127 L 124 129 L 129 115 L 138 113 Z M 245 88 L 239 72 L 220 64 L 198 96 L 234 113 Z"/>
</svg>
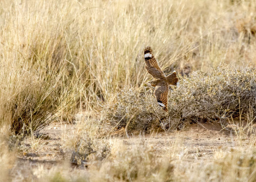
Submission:
<svg viewBox="0 0 256 182">
<path fill-rule="evenodd" d="M 180 173 L 175 181 L 255 181 L 255 147 L 247 150 L 237 148 L 231 151 L 218 151 L 215 158 L 208 163 L 187 166 L 178 164 Z"/>
</svg>

